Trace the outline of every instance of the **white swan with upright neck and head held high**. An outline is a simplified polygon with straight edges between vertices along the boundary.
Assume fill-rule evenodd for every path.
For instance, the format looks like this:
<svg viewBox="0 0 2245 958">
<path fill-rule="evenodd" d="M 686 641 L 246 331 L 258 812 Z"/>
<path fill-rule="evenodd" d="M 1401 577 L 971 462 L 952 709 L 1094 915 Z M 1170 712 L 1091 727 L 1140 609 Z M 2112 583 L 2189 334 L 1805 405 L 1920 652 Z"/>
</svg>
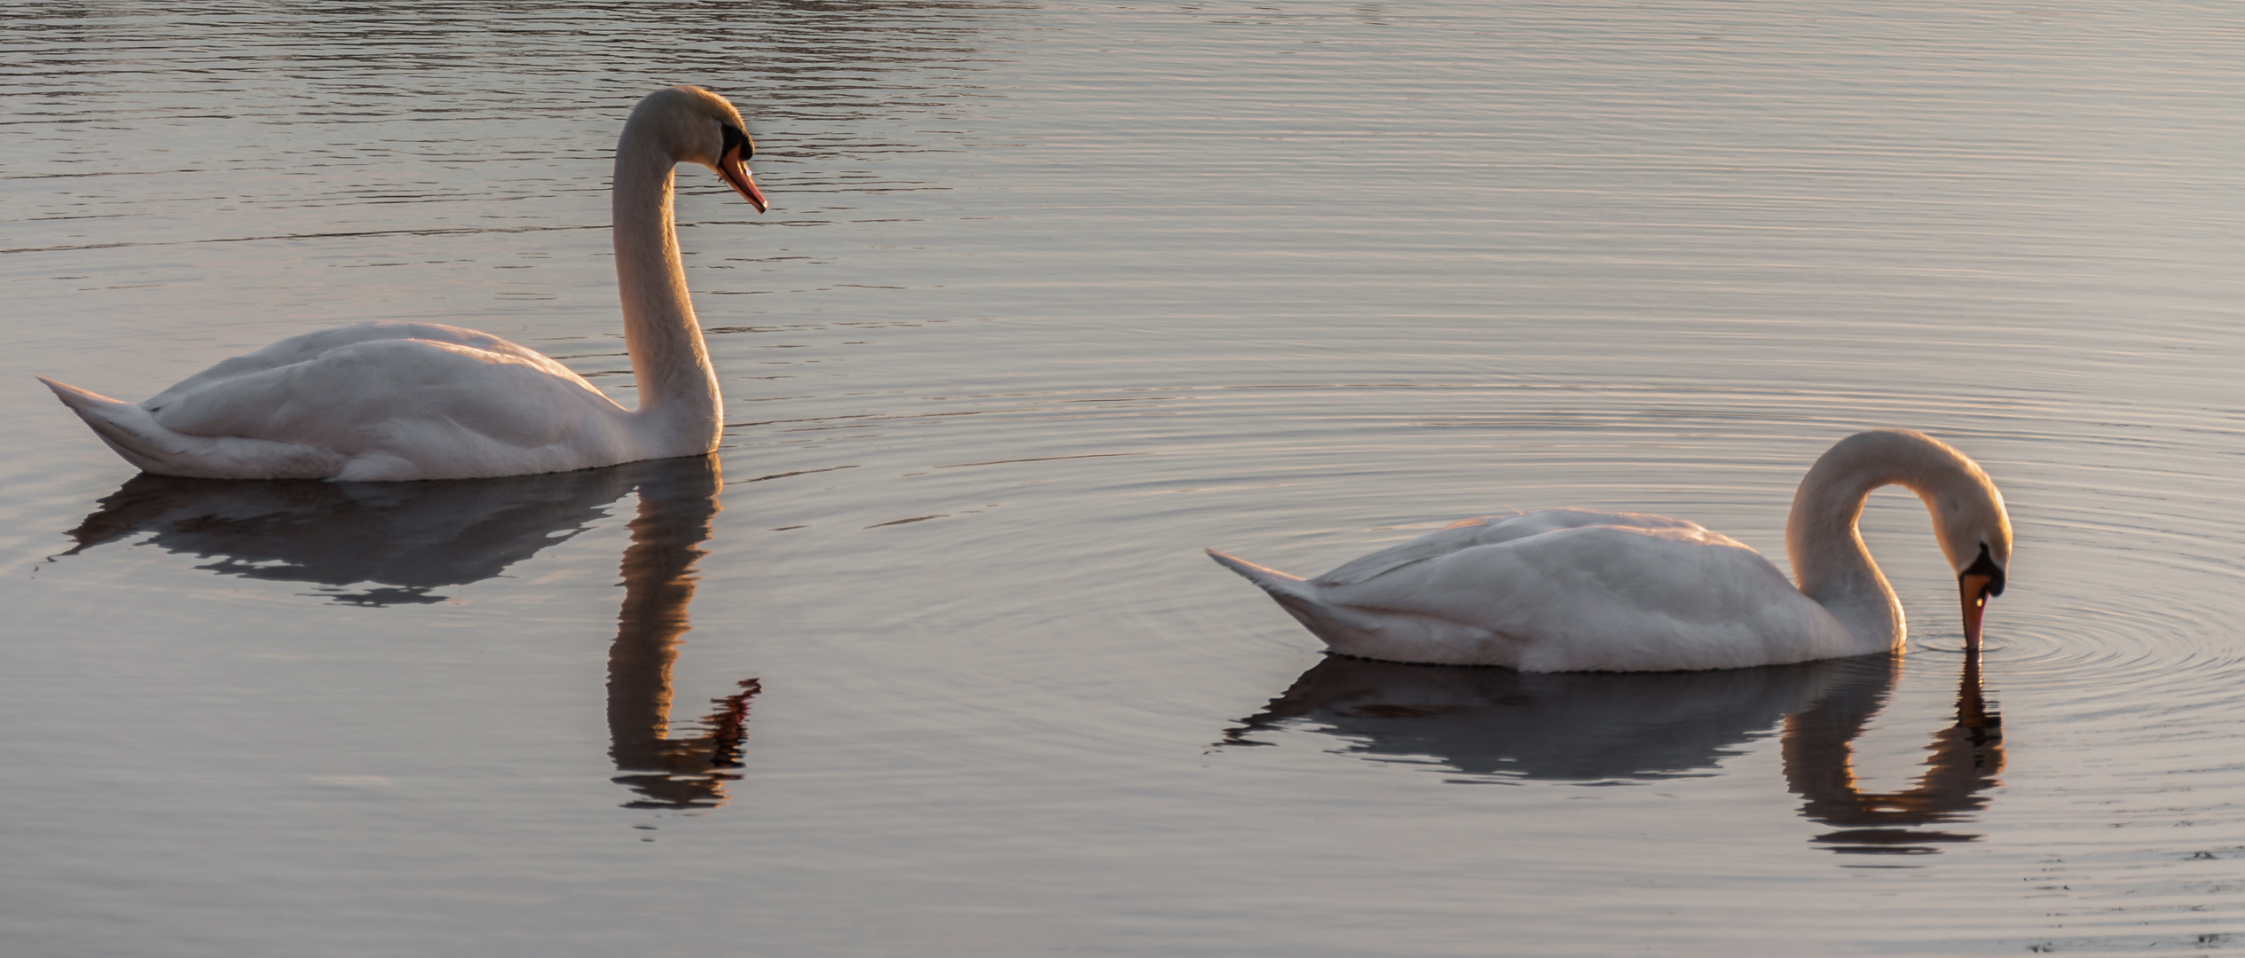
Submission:
<svg viewBox="0 0 2245 958">
<path fill-rule="evenodd" d="M 700 87 L 656 90 L 624 121 L 611 209 L 635 411 L 537 350 L 438 323 L 290 337 L 139 404 L 38 379 L 159 476 L 433 480 L 703 455 L 725 417 L 678 260 L 671 168 L 709 166 L 763 213 L 754 153 L 741 112 Z"/>
</svg>

